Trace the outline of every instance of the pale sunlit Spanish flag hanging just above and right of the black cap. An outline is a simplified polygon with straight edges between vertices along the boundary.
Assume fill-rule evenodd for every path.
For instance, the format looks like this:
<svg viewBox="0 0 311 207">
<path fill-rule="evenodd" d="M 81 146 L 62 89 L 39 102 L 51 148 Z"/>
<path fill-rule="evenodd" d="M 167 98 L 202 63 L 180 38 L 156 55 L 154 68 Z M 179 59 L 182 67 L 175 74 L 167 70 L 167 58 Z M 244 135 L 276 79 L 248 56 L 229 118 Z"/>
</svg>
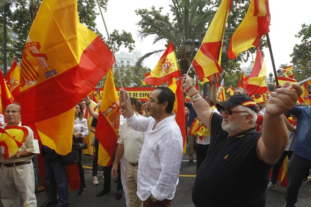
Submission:
<svg viewBox="0 0 311 207">
<path fill-rule="evenodd" d="M 260 51 L 259 46 L 257 47 L 256 58 L 251 74 L 246 80 L 244 88 L 249 96 L 255 94 L 258 88 L 261 86 L 262 82 L 267 77 L 266 64 L 263 61 L 263 55 Z"/>
</svg>

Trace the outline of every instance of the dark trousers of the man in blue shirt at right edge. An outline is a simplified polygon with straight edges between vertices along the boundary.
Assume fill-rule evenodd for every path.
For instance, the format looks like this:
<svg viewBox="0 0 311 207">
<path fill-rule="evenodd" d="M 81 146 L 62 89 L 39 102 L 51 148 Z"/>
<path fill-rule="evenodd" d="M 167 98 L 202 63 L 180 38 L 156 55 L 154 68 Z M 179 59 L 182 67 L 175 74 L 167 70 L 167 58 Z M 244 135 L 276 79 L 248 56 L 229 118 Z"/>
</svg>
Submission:
<svg viewBox="0 0 311 207">
<path fill-rule="evenodd" d="M 311 160 L 299 157 L 295 153 L 293 154 L 287 164 L 286 207 L 293 207 L 297 202 L 299 188 L 310 168 Z"/>
</svg>

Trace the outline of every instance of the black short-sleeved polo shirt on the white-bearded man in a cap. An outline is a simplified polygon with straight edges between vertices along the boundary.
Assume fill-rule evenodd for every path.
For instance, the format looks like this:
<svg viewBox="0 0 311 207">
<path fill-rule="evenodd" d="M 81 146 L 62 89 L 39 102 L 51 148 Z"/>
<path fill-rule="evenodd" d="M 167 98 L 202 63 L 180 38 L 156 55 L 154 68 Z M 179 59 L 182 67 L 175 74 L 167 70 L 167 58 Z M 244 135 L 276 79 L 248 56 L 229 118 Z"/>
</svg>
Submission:
<svg viewBox="0 0 311 207">
<path fill-rule="evenodd" d="M 197 171 L 192 200 L 204 207 L 264 207 L 272 165 L 257 154 L 260 132 L 248 130 L 234 137 L 221 128 L 222 117 L 212 113 L 209 150 L 226 139 L 235 139 L 206 158 Z"/>
</svg>

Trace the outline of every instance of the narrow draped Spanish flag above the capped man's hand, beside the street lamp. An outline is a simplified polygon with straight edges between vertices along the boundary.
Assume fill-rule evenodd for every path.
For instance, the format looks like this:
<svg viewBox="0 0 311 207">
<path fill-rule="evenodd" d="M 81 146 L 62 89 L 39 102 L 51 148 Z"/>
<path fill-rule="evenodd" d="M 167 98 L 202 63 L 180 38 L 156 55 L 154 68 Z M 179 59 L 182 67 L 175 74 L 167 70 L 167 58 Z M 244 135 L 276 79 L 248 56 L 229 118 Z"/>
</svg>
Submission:
<svg viewBox="0 0 311 207">
<path fill-rule="evenodd" d="M 232 0 L 221 2 L 203 38 L 202 45 L 192 61 L 197 77 L 201 81 L 204 78 L 210 80 L 211 75 L 215 73 L 218 75 L 223 71 L 220 67 L 221 46 L 231 3 Z"/>
</svg>

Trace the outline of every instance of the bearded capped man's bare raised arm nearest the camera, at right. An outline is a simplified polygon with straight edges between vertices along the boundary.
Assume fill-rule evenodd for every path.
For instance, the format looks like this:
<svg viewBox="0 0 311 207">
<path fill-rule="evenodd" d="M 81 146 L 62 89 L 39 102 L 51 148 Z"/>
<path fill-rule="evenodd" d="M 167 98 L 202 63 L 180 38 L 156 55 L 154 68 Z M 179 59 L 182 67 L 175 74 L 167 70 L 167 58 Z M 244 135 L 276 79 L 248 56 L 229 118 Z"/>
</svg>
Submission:
<svg viewBox="0 0 311 207">
<path fill-rule="evenodd" d="M 287 81 L 282 88 L 271 93 L 267 102 L 262 124 L 265 130 L 262 131 L 262 137 L 258 140 L 258 151 L 261 159 L 268 164 L 275 164 L 287 145 L 288 133 L 283 113 L 295 106 L 302 93 L 300 85 L 293 84 L 294 90 L 286 88 L 288 86 L 290 82 Z"/>
</svg>

